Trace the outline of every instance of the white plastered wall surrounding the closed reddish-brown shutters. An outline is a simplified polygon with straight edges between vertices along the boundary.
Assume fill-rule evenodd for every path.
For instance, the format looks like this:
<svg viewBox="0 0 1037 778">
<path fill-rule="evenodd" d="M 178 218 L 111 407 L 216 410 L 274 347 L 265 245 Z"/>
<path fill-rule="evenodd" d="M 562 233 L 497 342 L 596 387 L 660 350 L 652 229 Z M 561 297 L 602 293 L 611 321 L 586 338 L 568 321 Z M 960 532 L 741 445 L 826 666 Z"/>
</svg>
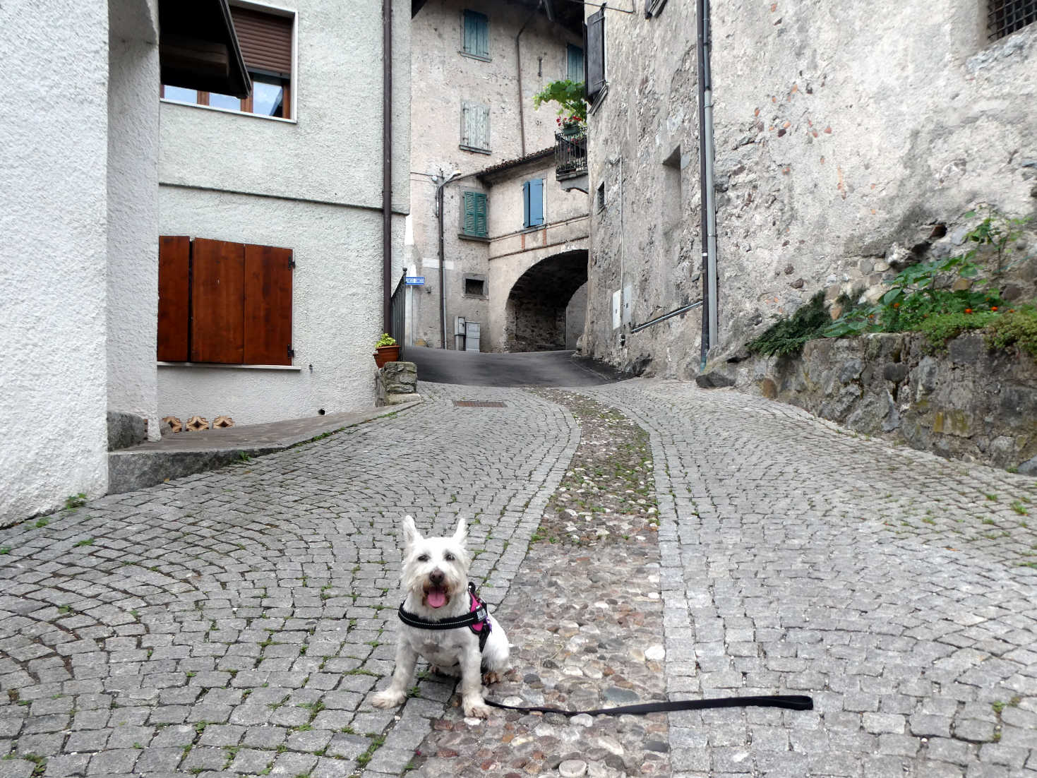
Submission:
<svg viewBox="0 0 1037 778">
<path fill-rule="evenodd" d="M 292 369 L 161 365 L 160 417 L 228 415 L 250 424 L 374 402 L 382 3 L 277 5 L 298 12 L 293 118 L 163 102 L 159 232 L 293 250 Z M 410 204 L 410 4 L 395 0 L 393 20 L 395 282 Z"/>
</svg>

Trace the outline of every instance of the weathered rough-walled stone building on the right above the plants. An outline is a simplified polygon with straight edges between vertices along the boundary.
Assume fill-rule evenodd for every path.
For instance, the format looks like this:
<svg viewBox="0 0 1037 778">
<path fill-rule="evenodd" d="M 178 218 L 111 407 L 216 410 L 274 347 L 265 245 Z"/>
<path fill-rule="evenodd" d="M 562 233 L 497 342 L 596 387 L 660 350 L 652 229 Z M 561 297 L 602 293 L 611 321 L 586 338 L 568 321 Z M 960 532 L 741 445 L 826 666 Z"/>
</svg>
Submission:
<svg viewBox="0 0 1037 778">
<path fill-rule="evenodd" d="M 716 200 L 710 360 L 818 290 L 873 298 L 891 261 L 959 250 L 977 207 L 1035 214 L 1033 2 L 713 3 L 700 74 L 703 5 L 587 10 L 601 41 L 588 45 L 594 356 L 701 369 L 709 296 L 705 310 L 663 316 L 708 290 L 704 189 Z M 711 89 L 711 171 L 700 86 Z M 1034 273 L 1031 251 L 1011 294 L 1033 297 Z"/>
</svg>

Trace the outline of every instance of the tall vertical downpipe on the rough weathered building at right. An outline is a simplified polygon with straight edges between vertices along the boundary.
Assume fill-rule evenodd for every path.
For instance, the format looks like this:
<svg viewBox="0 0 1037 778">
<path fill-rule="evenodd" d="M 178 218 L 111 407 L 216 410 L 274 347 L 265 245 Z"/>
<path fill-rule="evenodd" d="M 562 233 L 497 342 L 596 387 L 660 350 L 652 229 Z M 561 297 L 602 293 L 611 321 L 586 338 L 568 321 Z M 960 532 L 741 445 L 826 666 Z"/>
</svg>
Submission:
<svg viewBox="0 0 1037 778">
<path fill-rule="evenodd" d="M 709 72 L 709 0 L 698 0 L 699 183 L 702 211 L 702 362 L 717 345 L 717 205 L 713 185 L 712 78 Z"/>
</svg>

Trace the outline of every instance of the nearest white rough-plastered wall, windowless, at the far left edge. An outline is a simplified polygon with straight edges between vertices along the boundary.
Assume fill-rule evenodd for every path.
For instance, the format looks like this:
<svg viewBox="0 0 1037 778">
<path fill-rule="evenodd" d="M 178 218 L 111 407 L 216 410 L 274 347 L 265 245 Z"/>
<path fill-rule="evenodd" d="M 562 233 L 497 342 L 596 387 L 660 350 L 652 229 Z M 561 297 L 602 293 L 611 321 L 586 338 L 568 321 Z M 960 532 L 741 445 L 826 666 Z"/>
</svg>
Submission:
<svg viewBox="0 0 1037 778">
<path fill-rule="evenodd" d="M 108 11 L 0 4 L 0 523 L 107 487 Z M 17 186 L 12 186 L 17 183 Z"/>
</svg>

